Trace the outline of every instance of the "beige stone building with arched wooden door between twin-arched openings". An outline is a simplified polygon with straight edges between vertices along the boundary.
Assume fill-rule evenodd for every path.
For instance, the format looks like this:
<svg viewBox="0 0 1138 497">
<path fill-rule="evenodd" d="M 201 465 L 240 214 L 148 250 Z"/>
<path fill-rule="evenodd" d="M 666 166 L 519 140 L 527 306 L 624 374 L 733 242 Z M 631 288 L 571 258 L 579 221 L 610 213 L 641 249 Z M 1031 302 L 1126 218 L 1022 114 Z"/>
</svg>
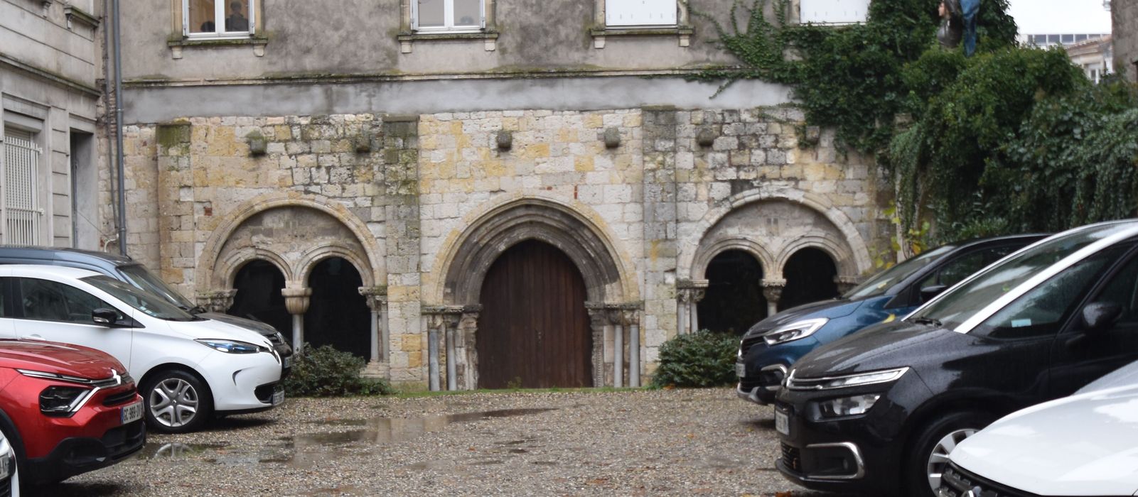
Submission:
<svg viewBox="0 0 1138 497">
<path fill-rule="evenodd" d="M 891 190 L 786 88 L 685 80 L 729 3 L 137 2 L 127 251 L 404 386 L 641 384 L 888 247 Z"/>
</svg>

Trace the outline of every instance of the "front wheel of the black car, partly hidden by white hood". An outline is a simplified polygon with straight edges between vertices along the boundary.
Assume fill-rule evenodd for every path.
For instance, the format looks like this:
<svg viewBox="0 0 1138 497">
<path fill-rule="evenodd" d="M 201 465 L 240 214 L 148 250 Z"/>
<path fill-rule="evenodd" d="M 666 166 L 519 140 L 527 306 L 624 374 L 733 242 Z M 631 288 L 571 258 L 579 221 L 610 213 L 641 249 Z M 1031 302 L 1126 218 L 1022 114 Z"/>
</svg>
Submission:
<svg viewBox="0 0 1138 497">
<path fill-rule="evenodd" d="M 934 417 L 918 428 L 901 466 L 905 495 L 934 497 L 934 484 L 940 486 L 940 474 L 948 464 L 948 452 L 991 422 L 991 416 L 986 413 L 960 411 Z"/>
</svg>

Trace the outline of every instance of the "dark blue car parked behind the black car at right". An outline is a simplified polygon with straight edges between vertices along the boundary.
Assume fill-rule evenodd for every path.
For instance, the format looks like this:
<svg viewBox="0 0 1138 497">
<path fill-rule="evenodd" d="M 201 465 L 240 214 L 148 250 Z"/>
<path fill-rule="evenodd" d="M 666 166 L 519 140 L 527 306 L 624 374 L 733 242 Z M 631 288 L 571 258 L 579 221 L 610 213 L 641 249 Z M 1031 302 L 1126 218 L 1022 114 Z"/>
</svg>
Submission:
<svg viewBox="0 0 1138 497">
<path fill-rule="evenodd" d="M 948 287 L 1044 237 L 995 237 L 937 247 L 873 275 L 836 299 L 785 309 L 758 322 L 739 347 L 736 394 L 769 404 L 790 365 L 815 347 L 871 324 L 905 317 Z"/>
</svg>

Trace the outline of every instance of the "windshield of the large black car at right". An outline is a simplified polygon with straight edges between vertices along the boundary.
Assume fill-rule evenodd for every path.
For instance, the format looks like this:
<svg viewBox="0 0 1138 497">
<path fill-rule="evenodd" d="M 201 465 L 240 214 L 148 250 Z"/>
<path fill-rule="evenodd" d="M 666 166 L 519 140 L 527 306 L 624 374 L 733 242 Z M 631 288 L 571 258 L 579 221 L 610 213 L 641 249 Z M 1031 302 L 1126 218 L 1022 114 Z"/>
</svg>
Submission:
<svg viewBox="0 0 1138 497">
<path fill-rule="evenodd" d="M 943 328 L 956 329 L 983 309 L 988 304 L 1012 291 L 1021 283 L 1047 270 L 1079 249 L 1119 231 L 1133 227 L 1133 223 L 1112 223 L 1061 234 L 988 267 L 978 276 L 943 293 L 924 308 L 909 316 L 914 320 L 935 320 Z"/>
</svg>

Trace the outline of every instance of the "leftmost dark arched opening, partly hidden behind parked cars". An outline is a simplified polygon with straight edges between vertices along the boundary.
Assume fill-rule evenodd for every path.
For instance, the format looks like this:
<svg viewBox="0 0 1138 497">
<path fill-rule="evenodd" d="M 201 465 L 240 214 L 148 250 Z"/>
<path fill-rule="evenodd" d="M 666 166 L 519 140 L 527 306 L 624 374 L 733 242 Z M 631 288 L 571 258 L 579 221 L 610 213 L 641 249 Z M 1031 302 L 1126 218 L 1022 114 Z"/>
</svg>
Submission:
<svg viewBox="0 0 1138 497">
<path fill-rule="evenodd" d="M 292 317 L 284 307 L 284 275 L 272 263 L 255 259 L 233 276 L 233 306 L 226 314 L 269 323 L 286 338 L 292 337 Z"/>
</svg>

